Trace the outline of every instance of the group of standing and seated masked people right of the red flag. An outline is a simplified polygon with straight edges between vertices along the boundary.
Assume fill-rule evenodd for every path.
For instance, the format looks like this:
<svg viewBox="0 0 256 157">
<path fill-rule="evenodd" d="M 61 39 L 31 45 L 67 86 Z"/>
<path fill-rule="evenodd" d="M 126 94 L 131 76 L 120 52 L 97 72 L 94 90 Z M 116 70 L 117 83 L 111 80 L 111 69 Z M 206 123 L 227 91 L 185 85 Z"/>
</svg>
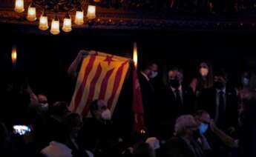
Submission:
<svg viewBox="0 0 256 157">
<path fill-rule="evenodd" d="M 252 70 L 244 70 L 234 87 L 223 68 L 213 70 L 206 62 L 188 85 L 174 67 L 161 88 L 154 87 L 157 64 L 145 65 L 139 73 L 145 124 L 149 135 L 165 143 L 162 156 L 256 156 Z"/>
</svg>

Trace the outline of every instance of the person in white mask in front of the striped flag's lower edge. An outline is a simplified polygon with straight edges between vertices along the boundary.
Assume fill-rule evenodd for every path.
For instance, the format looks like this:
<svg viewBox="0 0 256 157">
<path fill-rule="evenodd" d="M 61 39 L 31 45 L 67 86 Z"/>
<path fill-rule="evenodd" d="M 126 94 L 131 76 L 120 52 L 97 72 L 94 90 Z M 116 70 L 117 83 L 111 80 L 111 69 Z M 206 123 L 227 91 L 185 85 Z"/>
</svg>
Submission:
<svg viewBox="0 0 256 157">
<path fill-rule="evenodd" d="M 92 118 L 85 118 L 81 130 L 81 145 L 95 156 L 111 156 L 119 144 L 119 136 L 111 121 L 111 111 L 105 101 L 95 100 L 90 107 Z"/>
</svg>

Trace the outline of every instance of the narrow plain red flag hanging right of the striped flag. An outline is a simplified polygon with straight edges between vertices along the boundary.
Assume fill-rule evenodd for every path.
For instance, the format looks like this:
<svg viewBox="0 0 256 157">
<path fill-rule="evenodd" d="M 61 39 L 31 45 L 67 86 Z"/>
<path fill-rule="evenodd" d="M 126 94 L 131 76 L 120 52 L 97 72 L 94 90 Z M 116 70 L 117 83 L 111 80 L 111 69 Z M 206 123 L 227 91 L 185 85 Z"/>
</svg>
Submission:
<svg viewBox="0 0 256 157">
<path fill-rule="evenodd" d="M 134 111 L 134 130 L 144 133 L 145 124 L 143 117 L 142 94 L 140 92 L 140 82 L 137 75 L 137 68 L 133 66 L 133 111 Z"/>
</svg>

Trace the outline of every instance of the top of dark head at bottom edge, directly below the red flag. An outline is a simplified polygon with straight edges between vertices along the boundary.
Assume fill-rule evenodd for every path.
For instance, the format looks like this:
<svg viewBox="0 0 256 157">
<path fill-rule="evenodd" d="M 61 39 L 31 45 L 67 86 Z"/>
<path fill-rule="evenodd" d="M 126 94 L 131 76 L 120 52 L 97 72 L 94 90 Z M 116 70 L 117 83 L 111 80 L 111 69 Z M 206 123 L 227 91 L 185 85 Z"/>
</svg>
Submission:
<svg viewBox="0 0 256 157">
<path fill-rule="evenodd" d="M 142 142 L 134 146 L 133 157 L 155 157 L 154 148 Z"/>
</svg>

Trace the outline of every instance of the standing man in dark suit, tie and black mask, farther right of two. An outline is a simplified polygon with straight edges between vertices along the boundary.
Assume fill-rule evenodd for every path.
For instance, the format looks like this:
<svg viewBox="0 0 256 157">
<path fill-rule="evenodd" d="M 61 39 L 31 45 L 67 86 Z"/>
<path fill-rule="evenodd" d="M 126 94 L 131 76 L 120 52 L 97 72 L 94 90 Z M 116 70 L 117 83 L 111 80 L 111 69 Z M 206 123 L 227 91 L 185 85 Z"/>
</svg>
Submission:
<svg viewBox="0 0 256 157">
<path fill-rule="evenodd" d="M 238 119 L 237 93 L 231 87 L 226 86 L 227 82 L 227 76 L 223 70 L 215 72 L 214 87 L 202 91 L 198 108 L 206 110 L 220 130 L 234 137 Z M 207 133 L 206 137 L 209 139 L 215 156 L 228 156 L 231 150 L 220 141 L 220 138 L 212 133 Z"/>
</svg>

